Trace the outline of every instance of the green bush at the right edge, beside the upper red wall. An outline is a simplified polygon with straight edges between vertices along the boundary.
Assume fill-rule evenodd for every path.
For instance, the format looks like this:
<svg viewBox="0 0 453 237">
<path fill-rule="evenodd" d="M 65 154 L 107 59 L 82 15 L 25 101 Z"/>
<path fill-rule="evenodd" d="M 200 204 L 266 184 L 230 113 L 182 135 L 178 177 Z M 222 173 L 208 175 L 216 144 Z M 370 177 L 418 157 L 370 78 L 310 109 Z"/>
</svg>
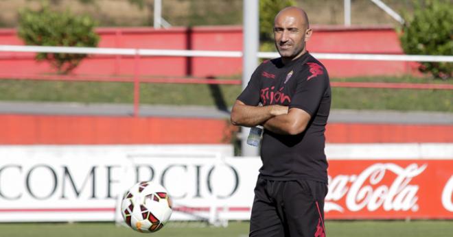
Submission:
<svg viewBox="0 0 453 237">
<path fill-rule="evenodd" d="M 404 52 L 415 55 L 453 55 L 453 8 L 450 1 L 430 0 L 416 5 L 413 18 L 402 28 Z M 419 71 L 452 77 L 450 62 L 421 62 Z"/>
</svg>

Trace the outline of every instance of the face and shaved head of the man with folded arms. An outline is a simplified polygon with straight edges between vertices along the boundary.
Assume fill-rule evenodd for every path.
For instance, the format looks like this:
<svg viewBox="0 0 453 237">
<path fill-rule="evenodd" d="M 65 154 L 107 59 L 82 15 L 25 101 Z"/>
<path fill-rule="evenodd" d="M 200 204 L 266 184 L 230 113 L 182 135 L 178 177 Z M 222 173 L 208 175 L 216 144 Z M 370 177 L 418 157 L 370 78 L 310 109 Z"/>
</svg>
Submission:
<svg viewBox="0 0 453 237">
<path fill-rule="evenodd" d="M 275 18 L 275 47 L 283 59 L 293 60 L 305 53 L 305 42 L 311 33 L 300 16 L 283 13 Z"/>
</svg>

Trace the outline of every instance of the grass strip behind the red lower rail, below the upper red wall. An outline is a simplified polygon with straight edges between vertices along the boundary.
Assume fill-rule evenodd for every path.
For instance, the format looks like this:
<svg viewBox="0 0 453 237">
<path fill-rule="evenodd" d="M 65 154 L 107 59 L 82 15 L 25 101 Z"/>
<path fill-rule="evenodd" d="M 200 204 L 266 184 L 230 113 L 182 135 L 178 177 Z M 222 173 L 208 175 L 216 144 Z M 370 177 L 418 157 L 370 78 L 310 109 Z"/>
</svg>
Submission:
<svg viewBox="0 0 453 237">
<path fill-rule="evenodd" d="M 358 77 L 332 82 L 405 82 L 453 84 L 415 77 Z M 204 105 L 228 108 L 241 86 L 141 84 L 141 104 Z M 451 90 L 332 88 L 332 108 L 350 110 L 419 110 L 453 112 Z M 133 85 L 118 82 L 36 82 L 0 79 L 0 101 L 132 103 Z"/>
</svg>

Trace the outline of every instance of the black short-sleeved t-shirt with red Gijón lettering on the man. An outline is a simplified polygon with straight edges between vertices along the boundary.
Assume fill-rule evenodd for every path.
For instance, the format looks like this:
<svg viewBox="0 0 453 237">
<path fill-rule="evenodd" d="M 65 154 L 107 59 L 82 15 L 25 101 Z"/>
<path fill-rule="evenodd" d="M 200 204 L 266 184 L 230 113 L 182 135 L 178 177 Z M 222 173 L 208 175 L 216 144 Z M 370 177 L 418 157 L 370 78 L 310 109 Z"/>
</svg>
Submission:
<svg viewBox="0 0 453 237">
<path fill-rule="evenodd" d="M 287 64 L 267 60 L 253 73 L 238 100 L 246 105 L 285 105 L 310 114 L 305 131 L 281 135 L 264 129 L 260 175 L 267 179 L 312 179 L 327 183 L 325 125 L 331 103 L 329 75 L 310 53 Z"/>
</svg>

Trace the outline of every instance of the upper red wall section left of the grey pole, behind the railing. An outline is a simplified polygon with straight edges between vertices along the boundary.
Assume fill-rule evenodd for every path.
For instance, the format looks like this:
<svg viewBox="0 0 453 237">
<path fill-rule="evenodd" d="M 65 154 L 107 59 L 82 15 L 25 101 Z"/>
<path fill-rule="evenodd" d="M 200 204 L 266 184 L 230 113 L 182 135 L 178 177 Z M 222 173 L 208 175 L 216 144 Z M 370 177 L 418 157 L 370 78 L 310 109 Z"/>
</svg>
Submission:
<svg viewBox="0 0 453 237">
<path fill-rule="evenodd" d="M 196 49 L 196 50 L 242 50 L 240 27 L 195 27 L 172 29 L 152 28 L 100 28 L 98 47 L 137 49 Z M 12 29 L 0 31 L 0 45 L 23 45 Z M 26 68 L 22 73 L 48 73 L 47 62 L 36 63 L 32 53 L 1 53 L 0 72 L 21 73 L 16 68 Z M 209 76 L 239 75 L 242 70 L 240 58 L 141 58 L 141 75 Z M 132 75 L 134 59 L 127 56 L 96 55 L 86 59 L 75 73 L 91 75 Z"/>
</svg>

